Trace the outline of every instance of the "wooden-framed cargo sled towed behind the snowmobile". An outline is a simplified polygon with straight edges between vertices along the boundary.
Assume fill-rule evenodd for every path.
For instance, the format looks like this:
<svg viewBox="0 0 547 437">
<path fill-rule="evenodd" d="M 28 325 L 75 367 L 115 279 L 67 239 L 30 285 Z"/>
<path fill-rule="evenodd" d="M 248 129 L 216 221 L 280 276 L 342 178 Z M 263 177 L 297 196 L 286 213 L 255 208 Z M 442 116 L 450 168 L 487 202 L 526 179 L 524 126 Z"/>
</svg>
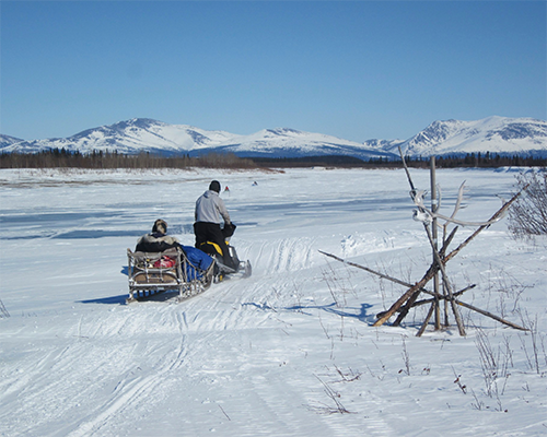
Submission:
<svg viewBox="0 0 547 437">
<path fill-rule="evenodd" d="M 200 270 L 188 261 L 181 248 L 163 252 L 127 249 L 127 259 L 128 304 L 164 292 L 177 292 L 177 302 L 182 302 L 205 292 L 213 281 L 214 262 L 206 271 Z"/>
</svg>

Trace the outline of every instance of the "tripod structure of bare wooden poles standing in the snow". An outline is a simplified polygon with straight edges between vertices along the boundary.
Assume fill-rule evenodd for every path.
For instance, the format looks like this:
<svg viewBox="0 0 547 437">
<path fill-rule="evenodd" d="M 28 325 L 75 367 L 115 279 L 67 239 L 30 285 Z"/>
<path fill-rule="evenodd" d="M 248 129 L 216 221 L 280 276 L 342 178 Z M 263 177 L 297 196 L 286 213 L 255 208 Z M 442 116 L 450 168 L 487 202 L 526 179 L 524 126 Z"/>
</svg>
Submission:
<svg viewBox="0 0 547 437">
<path fill-rule="evenodd" d="M 441 215 L 438 213 L 439 210 L 439 202 L 437 199 L 437 184 L 435 184 L 435 168 L 434 168 L 434 157 L 431 158 L 431 191 L 432 191 L 432 205 L 431 210 L 429 210 L 424 204 L 423 204 L 423 196 L 424 191 L 418 191 L 414 184 L 412 179 L 410 178 L 410 173 L 408 172 L 408 167 L 406 165 L 405 158 L 403 156 L 403 153 L 399 149 L 400 156 L 403 158 L 403 164 L 405 167 L 405 172 L 407 174 L 408 181 L 410 184 L 410 197 L 412 198 L 415 204 L 418 206 L 418 210 L 415 211 L 415 218 L 417 217 L 419 221 L 423 223 L 423 227 L 426 229 L 426 233 L 428 235 L 429 243 L 431 245 L 431 249 L 433 252 L 433 261 L 426 272 L 426 274 L 422 276 L 420 281 L 418 281 L 416 284 L 410 284 L 405 281 L 401 281 L 399 279 L 389 276 L 387 274 L 383 274 L 381 272 L 374 271 L 372 269 L 369 269 L 364 265 L 360 265 L 353 262 L 347 262 L 341 258 L 338 258 L 331 253 L 327 253 L 324 251 L 321 251 L 321 253 L 334 258 L 337 261 L 341 261 L 348 265 L 352 265 L 362 270 L 368 271 L 369 273 L 375 274 L 377 276 L 381 276 L 385 280 L 392 281 L 396 284 L 403 285 L 408 287 L 406 293 L 404 293 L 386 311 L 380 312 L 376 315 L 376 321 L 374 322 L 374 327 L 380 327 L 384 324 L 395 312 L 398 312 L 397 318 L 393 326 L 399 326 L 400 322 L 405 319 L 405 317 L 408 315 L 408 311 L 410 308 L 420 306 L 420 305 L 430 305 L 428 315 L 426 316 L 426 320 L 423 321 L 420 330 L 417 333 L 417 336 L 421 336 L 423 332 L 426 331 L 426 328 L 429 324 L 429 321 L 433 314 L 435 315 L 435 330 L 441 329 L 441 303 L 444 304 L 444 324 L 449 324 L 449 312 L 450 309 L 452 310 L 454 318 L 456 320 L 457 329 L 459 331 L 461 335 L 465 335 L 465 327 L 462 321 L 462 317 L 459 315 L 459 309 L 458 307 L 465 307 L 468 308 L 473 311 L 479 312 L 484 316 L 490 317 L 503 324 L 507 324 L 509 327 L 512 327 L 514 329 L 523 330 L 526 331 L 526 328 L 520 327 L 519 324 L 515 324 L 511 321 L 504 320 L 499 316 L 496 316 L 489 311 L 486 311 L 484 309 L 477 308 L 473 305 L 466 304 L 462 302 L 461 299 L 456 298 L 464 294 L 466 291 L 474 288 L 475 285 L 469 285 L 461 291 L 454 292 L 452 290 L 451 282 L 449 281 L 447 274 L 446 274 L 446 263 L 453 259 L 464 247 L 466 247 L 478 234 L 480 234 L 481 231 L 486 229 L 488 226 L 490 226 L 492 223 L 499 221 L 509 206 L 519 198 L 519 196 L 524 191 L 527 187 L 524 187 L 519 193 L 513 196 L 511 200 L 508 202 L 504 202 L 504 204 L 488 220 L 487 222 L 482 223 L 472 223 L 472 222 L 462 222 L 455 218 L 455 215 L 459 209 L 461 201 L 463 198 L 463 190 L 464 190 L 464 185 L 462 184 L 458 192 L 458 199 L 456 202 L 456 206 L 454 209 L 453 214 L 447 217 L 444 215 Z M 443 244 L 441 249 L 438 248 L 438 241 L 437 241 L 437 231 L 438 227 L 438 218 L 445 220 L 443 227 L 444 231 L 444 236 L 443 236 Z M 469 236 L 467 237 L 463 243 L 459 244 L 455 249 L 452 251 L 449 251 L 449 246 L 452 243 L 454 235 L 456 234 L 457 226 L 454 227 L 454 229 L 446 235 L 447 231 L 447 225 L 454 223 L 454 224 L 461 224 L 461 225 L 469 225 L 469 226 L 477 226 L 477 229 Z M 439 273 L 441 273 L 442 276 L 442 293 L 440 292 L 440 281 L 439 281 Z M 426 290 L 424 286 L 433 280 L 433 291 Z M 420 294 L 427 294 L 431 296 L 430 298 L 427 299 L 421 299 L 418 300 L 418 297 Z M 450 307 L 450 309 L 449 309 Z"/>
</svg>

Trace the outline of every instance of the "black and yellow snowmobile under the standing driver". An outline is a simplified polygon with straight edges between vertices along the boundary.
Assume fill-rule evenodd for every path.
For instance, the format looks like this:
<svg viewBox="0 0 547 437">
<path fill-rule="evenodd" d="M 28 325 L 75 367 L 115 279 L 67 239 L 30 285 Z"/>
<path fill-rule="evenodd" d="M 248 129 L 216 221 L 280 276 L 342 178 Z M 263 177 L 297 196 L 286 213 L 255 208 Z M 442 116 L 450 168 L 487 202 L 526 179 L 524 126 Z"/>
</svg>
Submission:
<svg viewBox="0 0 547 437">
<path fill-rule="evenodd" d="M 199 249 L 212 257 L 218 265 L 218 270 L 214 273 L 214 282 L 220 282 L 224 279 L 235 276 L 248 277 L 252 274 L 253 269 L 251 267 L 251 261 L 241 261 L 237 257 L 237 252 L 235 251 L 235 247 L 230 245 L 230 238 L 234 234 L 235 227 L 236 226 L 232 223 L 229 226 L 224 226 L 224 228 L 222 229 L 222 234 L 224 236 L 229 250 L 231 265 L 226 265 L 226 263 L 224 262 L 222 249 L 218 244 L 213 241 L 206 241 L 199 246 Z"/>
</svg>

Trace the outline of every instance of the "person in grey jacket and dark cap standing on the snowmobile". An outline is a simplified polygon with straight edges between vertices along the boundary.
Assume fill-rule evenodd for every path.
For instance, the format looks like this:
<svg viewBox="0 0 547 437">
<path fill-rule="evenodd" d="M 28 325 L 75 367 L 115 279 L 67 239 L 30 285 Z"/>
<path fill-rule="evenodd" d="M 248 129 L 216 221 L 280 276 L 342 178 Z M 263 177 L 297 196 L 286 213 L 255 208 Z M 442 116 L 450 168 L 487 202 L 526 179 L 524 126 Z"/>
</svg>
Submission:
<svg viewBox="0 0 547 437">
<path fill-rule="evenodd" d="M 213 180 L 209 185 L 209 189 L 196 201 L 196 223 L 194 223 L 196 247 L 199 249 L 207 241 L 217 244 L 222 251 L 224 265 L 235 268 L 225 240 L 226 237 L 232 236 L 235 225 L 231 223 L 230 214 L 219 193 L 220 182 Z M 224 221 L 224 229 L 220 227 L 221 217 Z"/>
</svg>

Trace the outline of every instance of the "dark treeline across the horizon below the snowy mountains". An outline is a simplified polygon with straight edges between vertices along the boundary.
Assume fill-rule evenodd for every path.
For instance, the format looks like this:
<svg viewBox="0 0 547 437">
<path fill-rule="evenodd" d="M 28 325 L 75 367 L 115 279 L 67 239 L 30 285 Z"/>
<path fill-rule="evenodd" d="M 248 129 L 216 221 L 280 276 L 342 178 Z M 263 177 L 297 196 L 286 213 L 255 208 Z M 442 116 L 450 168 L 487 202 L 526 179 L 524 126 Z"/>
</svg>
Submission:
<svg viewBox="0 0 547 437">
<path fill-rule="evenodd" d="M 408 166 L 426 168 L 428 157 L 409 157 Z M 454 167 L 545 167 L 547 157 L 499 155 L 489 152 L 467 155 L 438 156 L 438 168 Z M 148 152 L 125 155 L 117 152 L 94 151 L 89 154 L 53 149 L 38 153 L 2 153 L 0 168 L 267 168 L 267 167 L 344 167 L 344 168 L 399 168 L 400 160 L 373 157 L 368 161 L 346 155 L 324 155 L 306 157 L 238 157 L 233 153 L 210 153 L 199 157 L 189 155 L 160 156 Z"/>
</svg>

